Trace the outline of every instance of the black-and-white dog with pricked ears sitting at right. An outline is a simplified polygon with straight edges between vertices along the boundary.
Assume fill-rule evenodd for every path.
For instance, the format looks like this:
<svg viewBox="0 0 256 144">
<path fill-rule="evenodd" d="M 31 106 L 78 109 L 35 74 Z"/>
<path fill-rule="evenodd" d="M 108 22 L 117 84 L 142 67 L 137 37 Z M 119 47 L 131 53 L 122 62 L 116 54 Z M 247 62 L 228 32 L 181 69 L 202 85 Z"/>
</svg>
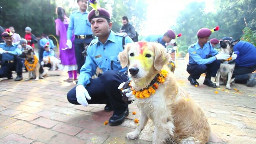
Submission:
<svg viewBox="0 0 256 144">
<path fill-rule="evenodd" d="M 240 40 L 235 41 L 220 41 L 221 46 L 221 52 L 224 54 L 230 54 L 230 56 L 233 53 L 233 47 L 238 43 Z M 234 81 L 235 78 L 232 78 L 233 71 L 236 66 L 236 61 L 233 59 L 231 61 L 221 61 L 221 65 L 219 67 L 219 70 L 217 72 L 217 78 L 216 78 L 216 86 L 219 87 L 219 85 L 226 84 L 226 89 L 231 89 L 230 85 Z"/>
</svg>

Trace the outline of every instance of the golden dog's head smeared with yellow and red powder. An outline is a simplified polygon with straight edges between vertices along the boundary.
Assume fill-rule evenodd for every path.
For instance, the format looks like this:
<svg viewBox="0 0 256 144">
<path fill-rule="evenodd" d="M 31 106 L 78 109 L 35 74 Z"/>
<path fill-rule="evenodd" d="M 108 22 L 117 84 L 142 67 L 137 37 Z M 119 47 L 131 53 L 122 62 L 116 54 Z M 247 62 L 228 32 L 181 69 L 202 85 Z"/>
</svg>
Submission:
<svg viewBox="0 0 256 144">
<path fill-rule="evenodd" d="M 128 76 L 132 79 L 142 79 L 160 71 L 169 59 L 170 55 L 160 43 L 145 41 L 128 43 L 119 53 L 121 66 L 128 66 Z"/>
</svg>

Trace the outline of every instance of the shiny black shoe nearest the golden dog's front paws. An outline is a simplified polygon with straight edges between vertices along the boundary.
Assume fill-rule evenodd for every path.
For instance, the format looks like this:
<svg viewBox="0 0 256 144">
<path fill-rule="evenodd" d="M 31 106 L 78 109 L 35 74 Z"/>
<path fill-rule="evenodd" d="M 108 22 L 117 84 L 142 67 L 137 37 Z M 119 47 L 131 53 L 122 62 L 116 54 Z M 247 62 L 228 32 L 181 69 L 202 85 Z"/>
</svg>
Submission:
<svg viewBox="0 0 256 144">
<path fill-rule="evenodd" d="M 129 115 L 129 109 L 127 108 L 123 113 L 119 115 L 112 115 L 112 117 L 109 118 L 109 126 L 118 126 L 124 122 L 125 117 Z"/>
</svg>

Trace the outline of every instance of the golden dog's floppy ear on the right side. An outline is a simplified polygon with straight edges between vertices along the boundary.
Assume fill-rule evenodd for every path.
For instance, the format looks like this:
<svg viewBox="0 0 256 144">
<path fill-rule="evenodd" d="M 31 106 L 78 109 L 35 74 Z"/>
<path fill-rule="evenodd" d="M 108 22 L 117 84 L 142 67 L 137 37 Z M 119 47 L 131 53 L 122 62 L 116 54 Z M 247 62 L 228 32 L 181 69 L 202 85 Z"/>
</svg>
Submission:
<svg viewBox="0 0 256 144">
<path fill-rule="evenodd" d="M 165 52 L 165 48 L 160 43 L 152 43 L 155 49 L 155 59 L 154 59 L 154 68 L 156 70 L 161 70 L 163 65 L 166 65 L 170 59 L 170 54 Z"/>
</svg>

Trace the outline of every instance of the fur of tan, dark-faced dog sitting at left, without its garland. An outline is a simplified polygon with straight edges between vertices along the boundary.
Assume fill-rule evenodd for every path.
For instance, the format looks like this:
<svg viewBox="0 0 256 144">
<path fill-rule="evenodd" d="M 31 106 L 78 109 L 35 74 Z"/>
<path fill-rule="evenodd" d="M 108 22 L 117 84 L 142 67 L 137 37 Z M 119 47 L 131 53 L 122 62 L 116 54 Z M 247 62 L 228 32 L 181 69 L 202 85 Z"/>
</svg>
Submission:
<svg viewBox="0 0 256 144">
<path fill-rule="evenodd" d="M 28 61 L 28 63 L 34 63 L 34 53 L 32 52 L 32 49 L 28 50 L 26 53 L 24 53 L 25 59 Z M 28 70 L 28 78 L 25 79 L 25 81 L 28 81 L 31 79 L 31 77 L 35 76 L 35 81 L 39 80 L 39 60 L 37 59 L 37 64 L 35 65 L 34 70 L 30 71 Z"/>
</svg>

